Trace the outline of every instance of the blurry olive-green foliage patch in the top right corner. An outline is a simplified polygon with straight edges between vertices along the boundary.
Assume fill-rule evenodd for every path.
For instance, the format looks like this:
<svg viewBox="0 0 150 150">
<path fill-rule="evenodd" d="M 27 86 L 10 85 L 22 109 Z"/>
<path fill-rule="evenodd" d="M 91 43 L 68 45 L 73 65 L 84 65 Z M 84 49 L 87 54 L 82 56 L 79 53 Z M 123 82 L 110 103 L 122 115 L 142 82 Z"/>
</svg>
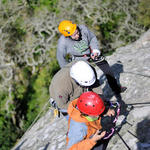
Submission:
<svg viewBox="0 0 150 150">
<path fill-rule="evenodd" d="M 138 22 L 145 27 L 150 27 L 150 0 L 142 0 L 137 11 Z"/>
</svg>

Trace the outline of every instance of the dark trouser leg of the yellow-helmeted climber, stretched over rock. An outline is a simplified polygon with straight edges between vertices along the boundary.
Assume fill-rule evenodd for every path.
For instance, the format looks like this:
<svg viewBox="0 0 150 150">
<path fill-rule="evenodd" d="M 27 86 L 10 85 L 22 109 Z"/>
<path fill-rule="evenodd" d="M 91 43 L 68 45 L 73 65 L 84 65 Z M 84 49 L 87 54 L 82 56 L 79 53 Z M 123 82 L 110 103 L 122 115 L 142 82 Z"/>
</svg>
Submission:
<svg viewBox="0 0 150 150">
<path fill-rule="evenodd" d="M 106 78 L 108 80 L 108 84 L 111 87 L 112 91 L 115 94 L 119 94 L 121 92 L 120 85 L 118 85 L 117 80 L 115 79 L 114 73 L 111 70 L 108 62 L 103 60 L 101 62 L 95 62 L 95 64 L 104 72 Z"/>
</svg>

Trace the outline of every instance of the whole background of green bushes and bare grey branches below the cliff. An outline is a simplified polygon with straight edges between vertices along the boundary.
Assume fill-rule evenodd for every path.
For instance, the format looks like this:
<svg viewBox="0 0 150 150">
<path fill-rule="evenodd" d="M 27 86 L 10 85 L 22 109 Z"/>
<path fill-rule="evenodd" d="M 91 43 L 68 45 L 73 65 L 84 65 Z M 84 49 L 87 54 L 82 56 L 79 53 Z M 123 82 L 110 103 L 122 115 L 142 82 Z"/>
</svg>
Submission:
<svg viewBox="0 0 150 150">
<path fill-rule="evenodd" d="M 86 24 L 107 55 L 135 41 L 150 27 L 150 0 L 95 2 L 97 5 L 90 0 L 0 2 L 2 150 L 15 144 L 48 102 L 49 84 L 59 70 L 56 46 L 60 20 Z"/>
</svg>

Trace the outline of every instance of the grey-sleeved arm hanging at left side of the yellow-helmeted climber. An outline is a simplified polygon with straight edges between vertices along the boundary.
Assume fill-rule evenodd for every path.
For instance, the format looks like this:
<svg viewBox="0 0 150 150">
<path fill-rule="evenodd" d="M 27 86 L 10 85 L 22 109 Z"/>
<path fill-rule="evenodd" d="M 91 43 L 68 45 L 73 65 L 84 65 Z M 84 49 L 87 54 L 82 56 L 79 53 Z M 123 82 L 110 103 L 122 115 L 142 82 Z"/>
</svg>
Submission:
<svg viewBox="0 0 150 150">
<path fill-rule="evenodd" d="M 65 45 L 65 40 L 64 37 L 60 37 L 58 40 L 58 46 L 57 46 L 57 60 L 60 65 L 60 67 L 64 67 L 68 62 L 66 61 L 66 45 Z"/>
</svg>

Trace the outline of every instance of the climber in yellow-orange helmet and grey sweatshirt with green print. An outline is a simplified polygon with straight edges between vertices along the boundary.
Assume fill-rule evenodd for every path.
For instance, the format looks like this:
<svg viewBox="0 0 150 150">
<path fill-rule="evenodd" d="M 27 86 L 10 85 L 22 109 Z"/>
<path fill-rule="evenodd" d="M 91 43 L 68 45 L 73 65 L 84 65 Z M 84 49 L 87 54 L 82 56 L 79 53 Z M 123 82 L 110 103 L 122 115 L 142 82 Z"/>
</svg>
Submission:
<svg viewBox="0 0 150 150">
<path fill-rule="evenodd" d="M 96 36 L 86 26 L 64 20 L 60 22 L 58 29 L 62 34 L 57 46 L 57 60 L 60 67 L 64 67 L 72 60 L 92 60 L 104 72 L 116 96 L 127 89 L 118 85 L 108 62 L 99 50 Z"/>
</svg>

